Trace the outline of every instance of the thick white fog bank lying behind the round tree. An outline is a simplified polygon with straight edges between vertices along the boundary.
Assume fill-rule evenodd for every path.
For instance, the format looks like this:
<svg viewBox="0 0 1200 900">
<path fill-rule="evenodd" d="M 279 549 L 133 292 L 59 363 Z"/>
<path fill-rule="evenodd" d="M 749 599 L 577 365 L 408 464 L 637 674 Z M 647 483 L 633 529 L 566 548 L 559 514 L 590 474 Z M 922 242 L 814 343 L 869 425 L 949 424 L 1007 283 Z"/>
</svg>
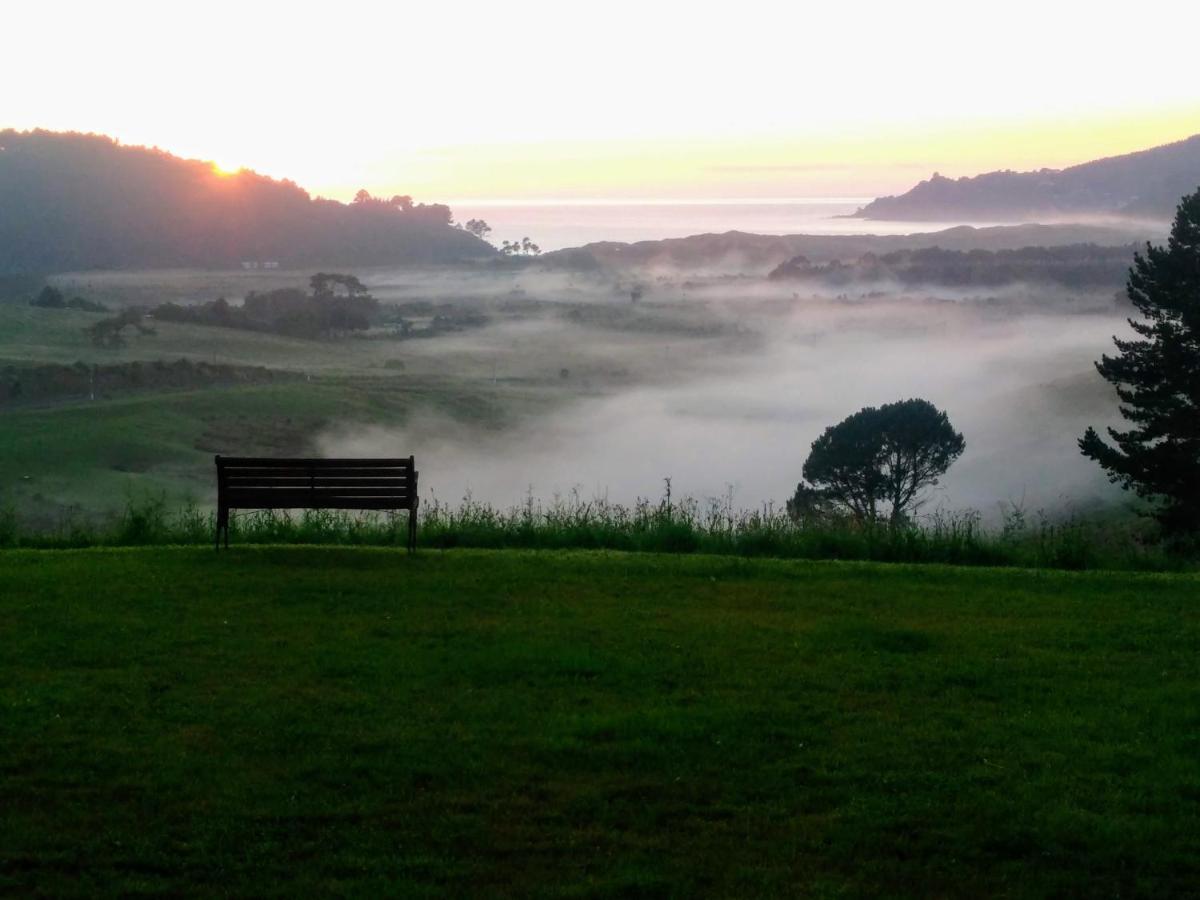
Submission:
<svg viewBox="0 0 1200 900">
<path fill-rule="evenodd" d="M 438 290 L 403 275 L 373 281 L 385 301 Z M 487 427 L 438 408 L 396 427 L 340 421 L 320 433 L 323 452 L 414 452 L 443 502 L 508 506 L 574 493 L 630 504 L 658 498 L 670 478 L 677 496 L 779 508 L 826 426 L 864 406 L 924 397 L 967 442 L 925 511 L 994 518 L 1003 503 L 1060 514 L 1117 497 L 1075 446 L 1116 410 L 1092 366 L 1126 328 L 1111 294 L 1018 286 L 991 296 L 847 295 L 660 278 L 631 302 L 602 281 L 536 274 L 474 290 L 466 301 L 462 286 L 451 293 L 490 324 L 427 349 L 448 372 L 480 378 L 502 406 L 535 385 L 553 402 Z"/>
</svg>

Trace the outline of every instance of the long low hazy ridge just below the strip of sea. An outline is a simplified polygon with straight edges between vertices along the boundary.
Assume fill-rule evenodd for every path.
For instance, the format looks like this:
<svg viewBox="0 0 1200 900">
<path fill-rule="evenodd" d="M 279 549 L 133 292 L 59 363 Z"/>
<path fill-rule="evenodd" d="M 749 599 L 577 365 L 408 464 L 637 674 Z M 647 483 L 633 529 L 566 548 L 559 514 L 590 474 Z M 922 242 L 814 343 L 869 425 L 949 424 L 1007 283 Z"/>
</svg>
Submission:
<svg viewBox="0 0 1200 900">
<path fill-rule="evenodd" d="M 696 234 L 656 241 L 598 241 L 539 257 L 554 269 L 653 270 L 720 275 L 766 275 L 794 257 L 814 263 L 854 262 L 864 253 L 941 247 L 943 250 L 1019 250 L 1067 244 L 1129 245 L 1159 234 L 1103 226 L 958 226 L 924 234 Z"/>
</svg>

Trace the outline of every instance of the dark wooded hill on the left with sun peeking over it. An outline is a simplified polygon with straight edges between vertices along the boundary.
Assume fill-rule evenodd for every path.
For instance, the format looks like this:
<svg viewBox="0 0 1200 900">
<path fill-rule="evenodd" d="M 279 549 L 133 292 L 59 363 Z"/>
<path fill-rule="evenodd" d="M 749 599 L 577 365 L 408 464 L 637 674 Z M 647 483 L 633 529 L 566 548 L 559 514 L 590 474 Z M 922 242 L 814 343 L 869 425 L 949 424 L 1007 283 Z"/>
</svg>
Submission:
<svg viewBox="0 0 1200 900">
<path fill-rule="evenodd" d="M 0 272 L 388 265 L 490 257 L 450 209 L 310 197 L 96 134 L 0 131 Z"/>
</svg>

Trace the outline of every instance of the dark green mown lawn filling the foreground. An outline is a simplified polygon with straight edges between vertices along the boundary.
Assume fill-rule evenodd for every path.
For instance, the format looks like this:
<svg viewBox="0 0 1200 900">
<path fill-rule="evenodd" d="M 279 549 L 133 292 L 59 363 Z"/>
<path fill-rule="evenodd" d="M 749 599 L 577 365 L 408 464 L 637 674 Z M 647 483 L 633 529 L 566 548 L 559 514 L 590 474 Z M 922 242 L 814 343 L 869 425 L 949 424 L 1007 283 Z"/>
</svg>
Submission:
<svg viewBox="0 0 1200 900">
<path fill-rule="evenodd" d="M 0 893 L 1194 896 L 1200 580 L 0 553 Z"/>
</svg>

